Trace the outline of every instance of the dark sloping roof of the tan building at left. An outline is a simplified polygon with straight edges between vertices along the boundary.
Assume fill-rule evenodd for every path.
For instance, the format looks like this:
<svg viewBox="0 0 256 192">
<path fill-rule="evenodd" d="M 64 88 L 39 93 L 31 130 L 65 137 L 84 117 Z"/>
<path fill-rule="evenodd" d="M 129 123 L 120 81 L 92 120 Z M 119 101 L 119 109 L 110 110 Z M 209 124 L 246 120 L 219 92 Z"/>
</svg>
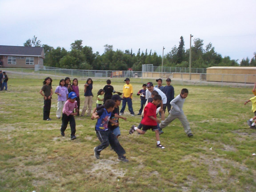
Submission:
<svg viewBox="0 0 256 192">
<path fill-rule="evenodd" d="M 0 45 L 0 55 L 4 55 L 4 56 L 40 56 L 40 57 L 44 58 L 44 48 Z"/>
</svg>

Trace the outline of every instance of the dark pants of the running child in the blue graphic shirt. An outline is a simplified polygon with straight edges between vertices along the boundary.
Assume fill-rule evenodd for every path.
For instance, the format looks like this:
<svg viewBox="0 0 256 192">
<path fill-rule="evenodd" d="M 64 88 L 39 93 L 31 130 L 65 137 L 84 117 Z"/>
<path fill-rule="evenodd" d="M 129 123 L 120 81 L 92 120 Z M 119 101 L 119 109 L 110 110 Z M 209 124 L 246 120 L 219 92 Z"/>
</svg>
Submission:
<svg viewBox="0 0 256 192">
<path fill-rule="evenodd" d="M 113 148 L 113 150 L 117 153 L 118 156 L 123 156 L 125 154 L 124 148 L 121 146 L 119 141 L 113 132 L 108 131 L 100 131 L 97 132 L 97 137 L 100 140 L 100 145 L 95 148 L 95 151 L 100 153 L 104 148 L 107 148 L 108 145 Z"/>
</svg>

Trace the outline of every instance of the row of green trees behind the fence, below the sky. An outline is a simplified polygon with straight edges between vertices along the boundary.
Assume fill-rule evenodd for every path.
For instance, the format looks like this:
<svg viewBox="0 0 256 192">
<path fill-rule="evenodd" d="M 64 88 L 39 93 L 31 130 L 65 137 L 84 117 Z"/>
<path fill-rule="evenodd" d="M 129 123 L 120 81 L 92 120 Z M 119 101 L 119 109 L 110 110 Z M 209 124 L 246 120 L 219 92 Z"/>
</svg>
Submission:
<svg viewBox="0 0 256 192">
<path fill-rule="evenodd" d="M 83 46 L 82 40 L 76 40 L 72 43 L 71 51 L 65 48 L 53 48 L 47 44 L 40 44 L 34 36 L 32 40 L 28 39 L 24 46 L 44 47 L 45 60 L 44 65 L 58 68 L 70 69 L 93 69 L 93 70 L 128 70 L 132 68 L 134 71 L 141 71 L 143 64 L 153 64 L 160 66 L 162 57 L 156 52 L 148 53 L 139 51 L 135 54 L 131 50 L 116 49 L 113 45 L 104 45 L 104 53 L 94 53 L 92 47 Z M 256 53 L 254 57 L 243 59 L 240 64 L 237 60 L 231 60 L 229 56 L 224 58 L 215 51 L 212 43 L 205 46 L 204 40 L 196 38 L 192 46 L 192 68 L 207 68 L 212 66 L 256 66 Z M 180 37 L 179 46 L 176 45 L 164 56 L 164 66 L 166 67 L 188 67 L 189 66 L 189 49 L 184 48 L 183 36 Z"/>
</svg>

